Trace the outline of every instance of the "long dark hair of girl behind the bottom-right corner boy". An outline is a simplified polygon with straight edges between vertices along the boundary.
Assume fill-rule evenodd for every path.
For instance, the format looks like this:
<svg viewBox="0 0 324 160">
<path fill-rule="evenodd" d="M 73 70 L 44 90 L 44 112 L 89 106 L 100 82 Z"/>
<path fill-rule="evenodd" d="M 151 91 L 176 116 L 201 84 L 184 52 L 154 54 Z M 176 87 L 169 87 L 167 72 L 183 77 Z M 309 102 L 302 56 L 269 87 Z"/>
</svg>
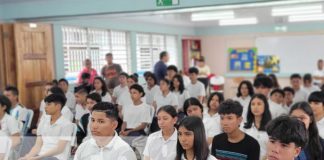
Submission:
<svg viewBox="0 0 324 160">
<path fill-rule="evenodd" d="M 291 107 L 289 115 L 291 115 L 291 113 L 297 109 L 304 111 L 310 118 L 310 124 L 308 127 L 309 139 L 306 147 L 307 151 L 309 152 L 310 159 L 324 158 L 322 157 L 323 148 L 318 135 L 318 128 L 316 126 L 315 116 L 311 106 L 307 102 L 298 102 Z"/>
</svg>

